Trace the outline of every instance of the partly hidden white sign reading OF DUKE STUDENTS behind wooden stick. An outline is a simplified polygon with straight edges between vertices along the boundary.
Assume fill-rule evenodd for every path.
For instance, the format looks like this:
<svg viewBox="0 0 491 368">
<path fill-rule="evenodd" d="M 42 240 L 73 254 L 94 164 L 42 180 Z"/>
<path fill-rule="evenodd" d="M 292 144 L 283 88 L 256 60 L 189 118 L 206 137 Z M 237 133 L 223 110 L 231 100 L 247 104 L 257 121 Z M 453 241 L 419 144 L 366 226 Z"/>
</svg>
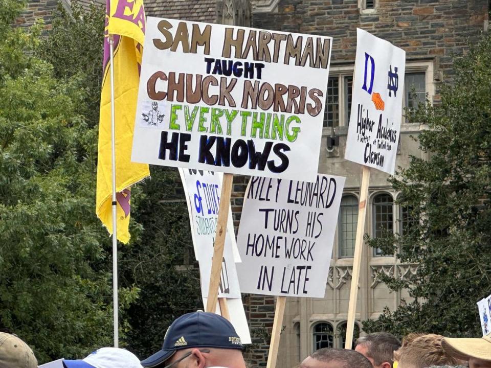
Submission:
<svg viewBox="0 0 491 368">
<path fill-rule="evenodd" d="M 210 171 L 188 169 L 180 169 L 179 173 L 188 205 L 194 253 L 199 263 L 202 296 L 205 298 L 210 285 L 222 175 Z M 228 205 L 230 206 L 230 203 Z M 228 224 L 218 296 L 240 298 L 232 250 L 237 247 L 232 220 L 228 221 Z"/>
</svg>

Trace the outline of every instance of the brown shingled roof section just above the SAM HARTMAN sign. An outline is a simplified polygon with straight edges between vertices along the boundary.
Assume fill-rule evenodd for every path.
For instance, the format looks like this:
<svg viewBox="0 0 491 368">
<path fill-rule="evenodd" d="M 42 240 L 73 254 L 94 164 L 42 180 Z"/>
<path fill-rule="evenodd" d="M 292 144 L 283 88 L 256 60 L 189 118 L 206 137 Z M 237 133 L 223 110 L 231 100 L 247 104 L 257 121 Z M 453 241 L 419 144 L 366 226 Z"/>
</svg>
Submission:
<svg viewBox="0 0 491 368">
<path fill-rule="evenodd" d="M 216 0 L 143 0 L 143 4 L 147 16 L 216 21 Z"/>
</svg>

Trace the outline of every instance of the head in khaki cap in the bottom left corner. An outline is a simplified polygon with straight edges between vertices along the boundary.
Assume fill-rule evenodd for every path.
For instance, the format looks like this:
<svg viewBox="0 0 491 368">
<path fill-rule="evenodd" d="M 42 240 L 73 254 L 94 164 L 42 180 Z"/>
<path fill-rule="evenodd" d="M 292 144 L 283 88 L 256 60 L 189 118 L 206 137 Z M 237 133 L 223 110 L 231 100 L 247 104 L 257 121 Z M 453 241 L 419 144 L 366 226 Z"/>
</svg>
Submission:
<svg viewBox="0 0 491 368">
<path fill-rule="evenodd" d="M 0 367 L 37 368 L 37 359 L 23 340 L 0 332 Z"/>
</svg>

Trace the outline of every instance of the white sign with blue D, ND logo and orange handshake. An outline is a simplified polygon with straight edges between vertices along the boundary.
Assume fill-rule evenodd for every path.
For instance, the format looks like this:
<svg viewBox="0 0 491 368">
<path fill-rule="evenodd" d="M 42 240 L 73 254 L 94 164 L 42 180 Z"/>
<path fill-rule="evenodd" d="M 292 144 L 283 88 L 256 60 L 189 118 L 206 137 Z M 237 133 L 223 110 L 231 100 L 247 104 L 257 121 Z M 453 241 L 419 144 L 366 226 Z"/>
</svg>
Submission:
<svg viewBox="0 0 491 368">
<path fill-rule="evenodd" d="M 344 157 L 394 173 L 402 117 L 406 52 L 356 30 L 351 113 Z"/>
</svg>

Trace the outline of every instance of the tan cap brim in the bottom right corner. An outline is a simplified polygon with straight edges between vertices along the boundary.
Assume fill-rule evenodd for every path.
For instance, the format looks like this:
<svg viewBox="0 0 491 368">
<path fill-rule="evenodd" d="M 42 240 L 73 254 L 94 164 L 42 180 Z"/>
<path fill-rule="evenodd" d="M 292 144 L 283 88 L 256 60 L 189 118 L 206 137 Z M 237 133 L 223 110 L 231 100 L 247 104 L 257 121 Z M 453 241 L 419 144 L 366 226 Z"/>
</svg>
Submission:
<svg viewBox="0 0 491 368">
<path fill-rule="evenodd" d="M 445 337 L 441 340 L 441 346 L 458 359 L 468 360 L 472 357 L 491 361 L 491 342 L 483 338 Z"/>
</svg>

